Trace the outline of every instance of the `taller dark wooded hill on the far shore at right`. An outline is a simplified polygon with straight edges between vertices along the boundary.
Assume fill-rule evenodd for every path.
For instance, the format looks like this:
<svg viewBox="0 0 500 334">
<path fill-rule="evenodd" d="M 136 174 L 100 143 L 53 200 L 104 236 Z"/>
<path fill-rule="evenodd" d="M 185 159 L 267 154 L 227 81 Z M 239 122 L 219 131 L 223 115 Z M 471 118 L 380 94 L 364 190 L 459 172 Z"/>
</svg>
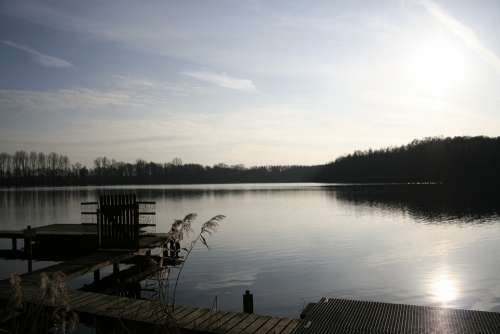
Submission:
<svg viewBox="0 0 500 334">
<path fill-rule="evenodd" d="M 325 165 L 325 182 L 500 184 L 500 137 L 430 137 L 357 151 Z"/>
</svg>

